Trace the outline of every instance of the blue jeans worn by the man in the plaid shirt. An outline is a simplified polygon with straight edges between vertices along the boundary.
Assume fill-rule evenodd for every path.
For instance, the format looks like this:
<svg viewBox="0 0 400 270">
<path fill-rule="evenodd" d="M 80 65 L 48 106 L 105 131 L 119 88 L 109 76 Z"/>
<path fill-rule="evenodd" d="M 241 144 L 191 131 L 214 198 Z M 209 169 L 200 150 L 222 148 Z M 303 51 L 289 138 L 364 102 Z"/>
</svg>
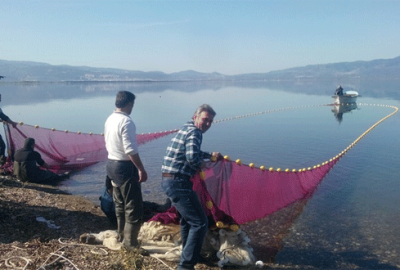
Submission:
<svg viewBox="0 0 400 270">
<path fill-rule="evenodd" d="M 208 229 L 207 215 L 190 180 L 163 177 L 161 187 L 181 215 L 182 254 L 179 267 L 194 269 Z"/>
</svg>

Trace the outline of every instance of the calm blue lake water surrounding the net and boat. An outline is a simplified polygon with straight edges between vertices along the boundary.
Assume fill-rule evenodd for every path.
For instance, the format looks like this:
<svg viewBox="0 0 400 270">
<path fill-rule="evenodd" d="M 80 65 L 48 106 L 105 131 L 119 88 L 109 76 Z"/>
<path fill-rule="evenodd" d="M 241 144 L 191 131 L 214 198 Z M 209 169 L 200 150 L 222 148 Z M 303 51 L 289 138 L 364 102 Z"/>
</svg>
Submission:
<svg viewBox="0 0 400 270">
<path fill-rule="evenodd" d="M 94 133 L 103 132 L 121 89 L 137 95 L 132 118 L 138 133 L 179 128 L 202 103 L 214 107 L 216 120 L 263 112 L 214 124 L 202 148 L 274 168 L 322 163 L 393 111 L 363 104 L 400 107 L 397 97 L 379 97 L 376 89 L 363 92 L 361 87 L 356 90 L 362 104 L 339 122 L 334 108 L 325 106 L 332 102 L 335 85 L 305 91 L 303 86 L 262 84 L 0 84 L 2 109 L 14 121 Z M 271 112 L 277 109 L 285 110 Z M 277 262 L 318 269 L 399 268 L 399 122 L 400 113 L 378 125 L 335 165 L 292 225 Z M 159 187 L 160 166 L 170 139 L 140 148 L 149 173 L 142 186 L 146 200 L 166 198 Z M 99 163 L 73 174 L 60 188 L 98 203 L 104 179 L 105 163 Z"/>
</svg>

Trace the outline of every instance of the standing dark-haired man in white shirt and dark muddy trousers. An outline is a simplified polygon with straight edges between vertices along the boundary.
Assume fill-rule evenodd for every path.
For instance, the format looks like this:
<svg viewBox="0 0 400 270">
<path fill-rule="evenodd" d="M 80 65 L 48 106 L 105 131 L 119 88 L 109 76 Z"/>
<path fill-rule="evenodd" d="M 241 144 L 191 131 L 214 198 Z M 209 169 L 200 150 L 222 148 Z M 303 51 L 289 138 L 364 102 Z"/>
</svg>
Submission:
<svg viewBox="0 0 400 270">
<path fill-rule="evenodd" d="M 113 186 L 113 199 L 117 217 L 118 234 L 126 249 L 138 249 L 137 240 L 143 223 L 143 199 L 141 183 L 147 180 L 147 172 L 139 156 L 136 142 L 136 126 L 130 114 L 135 104 L 135 95 L 119 91 L 116 110 L 104 125 L 104 138 L 108 152 L 107 175 Z"/>
</svg>

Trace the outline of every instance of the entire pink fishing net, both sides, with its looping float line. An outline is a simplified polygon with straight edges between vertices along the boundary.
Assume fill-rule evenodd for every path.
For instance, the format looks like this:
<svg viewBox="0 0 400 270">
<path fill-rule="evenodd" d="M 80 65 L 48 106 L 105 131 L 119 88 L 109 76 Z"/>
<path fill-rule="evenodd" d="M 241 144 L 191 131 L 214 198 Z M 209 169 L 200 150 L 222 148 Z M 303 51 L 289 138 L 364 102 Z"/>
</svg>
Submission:
<svg viewBox="0 0 400 270">
<path fill-rule="evenodd" d="M 228 118 L 228 120 L 241 119 L 263 113 L 278 112 L 289 109 L 331 105 L 332 104 L 304 105 L 299 107 L 268 110 L 261 113 L 236 116 Z M 207 215 L 214 218 L 217 227 L 224 227 L 228 224 L 229 226 L 234 225 L 235 228 L 238 228 L 238 226 L 236 226 L 237 224 L 244 224 L 248 221 L 265 217 L 266 215 L 282 209 L 293 202 L 309 198 L 325 175 L 348 150 L 357 144 L 377 125 L 393 116 L 398 111 L 397 107 L 389 105 L 359 105 L 390 107 L 394 109 L 394 111 L 373 124 L 338 155 L 321 164 L 302 169 L 281 170 L 280 168 L 277 168 L 275 170 L 273 167 L 267 169 L 265 166 L 256 168 L 254 163 L 244 165 L 240 160 L 236 160 L 236 162 L 231 161 L 228 156 L 225 156 L 223 160 L 217 162 L 207 162 L 207 167 L 192 178 L 192 182 L 194 183 L 193 189 L 198 194 L 202 205 L 206 208 Z M 220 123 L 223 121 L 227 121 L 227 119 L 218 120 L 216 122 Z M 72 134 L 68 132 L 55 131 L 58 136 L 54 135 L 54 138 L 52 137 L 53 131 L 51 130 L 39 129 L 37 126 L 30 126 L 24 129 L 23 125 L 21 125 L 20 128 L 21 130 L 26 130 L 27 134 L 32 135 L 35 139 L 38 138 L 37 143 L 40 147 L 49 152 L 47 158 L 49 158 L 50 155 L 55 155 L 55 158 L 58 158 L 58 160 L 61 161 L 57 163 L 57 159 L 50 160 L 53 164 L 55 163 L 55 168 L 59 166 L 61 169 L 82 169 L 107 159 L 104 138 L 101 135 L 85 135 L 82 133 L 81 135 L 72 136 L 75 138 L 75 140 L 72 140 L 68 137 Z M 176 131 L 177 130 L 171 130 L 160 134 L 165 136 L 167 133 L 171 134 Z M 15 137 L 14 139 L 18 141 L 17 145 L 23 144 L 23 141 L 26 138 L 26 135 L 24 135 L 19 129 L 8 129 L 8 133 L 9 136 L 7 138 L 12 141 L 13 137 Z M 145 134 L 143 136 L 147 135 Z M 140 135 L 138 135 L 138 138 L 139 137 Z M 79 138 L 79 140 L 76 138 Z M 152 136 L 149 136 L 149 138 L 152 140 L 159 137 L 156 136 L 153 138 Z M 144 140 L 144 142 L 146 141 Z M 140 143 L 138 144 L 140 145 Z M 59 150 L 57 147 L 62 146 L 64 147 L 61 149 L 62 151 L 59 152 L 62 152 L 64 156 L 57 156 L 57 150 Z M 62 163 L 65 156 L 69 157 L 69 161 L 66 160 L 65 163 Z M 73 159 L 71 159 L 71 157 L 73 157 Z M 251 200 L 249 200 L 249 198 L 251 198 Z M 220 223 L 218 223 L 219 221 Z M 220 226 L 218 226 L 218 224 Z"/>
</svg>

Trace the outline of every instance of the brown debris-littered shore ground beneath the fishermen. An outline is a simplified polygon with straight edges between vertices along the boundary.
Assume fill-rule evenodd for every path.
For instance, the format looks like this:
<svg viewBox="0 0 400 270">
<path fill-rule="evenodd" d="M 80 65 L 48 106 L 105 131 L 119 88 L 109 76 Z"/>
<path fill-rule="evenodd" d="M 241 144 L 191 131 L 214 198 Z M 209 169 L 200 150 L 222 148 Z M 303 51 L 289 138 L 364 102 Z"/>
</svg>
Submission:
<svg viewBox="0 0 400 270">
<path fill-rule="evenodd" d="M 276 218 L 271 220 L 279 222 Z M 268 262 L 263 268 L 286 268 L 273 264 L 273 256 L 280 248 L 286 229 L 279 225 L 274 226 L 277 231 L 266 233 L 265 226 L 265 222 L 255 222 L 243 227 L 250 239 L 258 239 L 254 254 Z M 176 263 L 151 256 L 79 242 L 79 236 L 84 233 L 109 229 L 115 228 L 101 209 L 83 197 L 66 194 L 49 185 L 0 177 L 0 269 L 176 268 Z M 216 262 L 206 262 L 196 265 L 196 269 L 220 268 Z"/>
</svg>

